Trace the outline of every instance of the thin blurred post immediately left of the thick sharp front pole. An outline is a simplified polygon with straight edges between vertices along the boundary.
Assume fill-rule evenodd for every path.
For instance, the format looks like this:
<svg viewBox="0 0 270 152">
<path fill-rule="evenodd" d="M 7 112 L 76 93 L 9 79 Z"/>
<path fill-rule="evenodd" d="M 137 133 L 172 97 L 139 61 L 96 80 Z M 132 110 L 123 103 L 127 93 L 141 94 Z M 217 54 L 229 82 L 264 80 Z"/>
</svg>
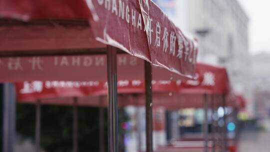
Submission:
<svg viewBox="0 0 270 152">
<path fill-rule="evenodd" d="M 99 124 L 99 152 L 104 152 L 104 109 L 102 97 L 99 96 L 98 124 Z"/>
</svg>

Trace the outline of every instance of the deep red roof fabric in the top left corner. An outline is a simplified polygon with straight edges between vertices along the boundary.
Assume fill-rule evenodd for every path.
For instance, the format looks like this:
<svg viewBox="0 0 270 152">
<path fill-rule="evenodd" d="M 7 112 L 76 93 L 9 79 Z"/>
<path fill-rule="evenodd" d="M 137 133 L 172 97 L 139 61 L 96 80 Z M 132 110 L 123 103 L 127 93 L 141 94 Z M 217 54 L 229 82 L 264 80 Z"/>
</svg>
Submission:
<svg viewBox="0 0 270 152">
<path fill-rule="evenodd" d="M 0 0 L 1 17 L 89 19 L 85 0 Z"/>
</svg>

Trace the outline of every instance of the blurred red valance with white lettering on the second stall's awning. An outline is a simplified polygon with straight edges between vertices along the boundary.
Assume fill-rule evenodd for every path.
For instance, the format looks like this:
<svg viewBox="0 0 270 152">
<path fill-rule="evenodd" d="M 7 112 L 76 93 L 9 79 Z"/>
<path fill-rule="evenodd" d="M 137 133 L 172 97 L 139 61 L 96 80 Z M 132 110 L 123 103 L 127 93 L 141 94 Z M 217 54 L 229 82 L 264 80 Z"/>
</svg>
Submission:
<svg viewBox="0 0 270 152">
<path fill-rule="evenodd" d="M 229 81 L 226 70 L 205 64 L 197 65 L 196 80 L 152 80 L 154 93 L 175 94 L 228 94 Z M 118 80 L 119 94 L 144 93 L 144 81 Z M 107 94 L 106 81 L 24 81 L 16 83 L 18 100 L 41 98 L 96 96 Z M 181 96 L 181 95 L 180 95 Z"/>
</svg>

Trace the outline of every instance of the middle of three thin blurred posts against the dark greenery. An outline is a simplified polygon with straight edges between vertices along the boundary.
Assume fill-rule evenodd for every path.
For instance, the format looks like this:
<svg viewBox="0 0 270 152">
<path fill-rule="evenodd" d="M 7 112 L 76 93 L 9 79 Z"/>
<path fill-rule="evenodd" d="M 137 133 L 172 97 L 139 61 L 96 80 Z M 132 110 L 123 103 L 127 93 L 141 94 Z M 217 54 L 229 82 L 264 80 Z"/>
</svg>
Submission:
<svg viewBox="0 0 270 152">
<path fill-rule="evenodd" d="M 77 97 L 73 98 L 73 152 L 78 151 L 78 104 Z"/>
</svg>

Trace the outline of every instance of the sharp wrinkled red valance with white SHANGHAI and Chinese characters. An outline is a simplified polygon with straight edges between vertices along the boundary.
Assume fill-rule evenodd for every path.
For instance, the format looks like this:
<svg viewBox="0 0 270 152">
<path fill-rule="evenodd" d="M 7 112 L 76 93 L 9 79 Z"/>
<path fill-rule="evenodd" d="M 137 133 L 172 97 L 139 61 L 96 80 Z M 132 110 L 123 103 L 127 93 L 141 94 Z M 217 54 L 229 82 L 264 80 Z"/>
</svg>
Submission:
<svg viewBox="0 0 270 152">
<path fill-rule="evenodd" d="M 187 77 L 195 74 L 197 43 L 151 0 L 88 0 L 97 40 Z"/>
</svg>

